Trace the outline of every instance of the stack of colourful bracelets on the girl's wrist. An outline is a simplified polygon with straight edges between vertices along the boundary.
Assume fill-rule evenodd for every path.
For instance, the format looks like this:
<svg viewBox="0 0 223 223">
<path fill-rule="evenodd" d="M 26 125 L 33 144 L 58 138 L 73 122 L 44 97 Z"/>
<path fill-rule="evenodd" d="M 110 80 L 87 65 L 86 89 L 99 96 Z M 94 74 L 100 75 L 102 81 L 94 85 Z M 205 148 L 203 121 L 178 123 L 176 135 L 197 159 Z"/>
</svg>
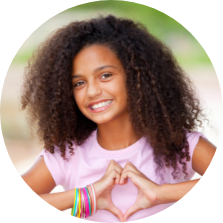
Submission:
<svg viewBox="0 0 223 223">
<path fill-rule="evenodd" d="M 88 187 L 77 189 L 74 193 L 74 204 L 71 209 L 71 216 L 77 218 L 87 218 L 96 213 L 96 196 L 92 184 Z M 89 191 L 90 190 L 90 191 Z M 90 196 L 90 192 L 93 196 Z"/>
</svg>

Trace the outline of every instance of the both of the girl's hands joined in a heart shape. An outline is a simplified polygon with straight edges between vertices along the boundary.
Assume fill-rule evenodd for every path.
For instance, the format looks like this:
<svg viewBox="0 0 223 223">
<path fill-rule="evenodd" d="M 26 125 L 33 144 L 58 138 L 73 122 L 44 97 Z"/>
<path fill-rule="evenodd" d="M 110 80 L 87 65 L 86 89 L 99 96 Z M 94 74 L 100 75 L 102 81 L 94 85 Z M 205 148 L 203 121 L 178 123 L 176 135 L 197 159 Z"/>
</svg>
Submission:
<svg viewBox="0 0 223 223">
<path fill-rule="evenodd" d="M 132 183 L 138 188 L 138 195 L 136 202 L 133 206 L 127 209 L 123 215 L 123 213 L 113 204 L 111 200 L 111 191 L 115 185 L 127 184 L 128 178 L 130 178 Z M 107 189 L 99 195 L 99 199 L 101 199 L 99 209 L 111 212 L 121 223 L 124 223 L 137 211 L 159 204 L 157 201 L 159 185 L 147 178 L 130 162 L 127 162 L 125 167 L 122 168 L 114 160 L 111 160 L 105 175 L 100 181 L 103 181 L 104 187 L 107 186 Z"/>
</svg>

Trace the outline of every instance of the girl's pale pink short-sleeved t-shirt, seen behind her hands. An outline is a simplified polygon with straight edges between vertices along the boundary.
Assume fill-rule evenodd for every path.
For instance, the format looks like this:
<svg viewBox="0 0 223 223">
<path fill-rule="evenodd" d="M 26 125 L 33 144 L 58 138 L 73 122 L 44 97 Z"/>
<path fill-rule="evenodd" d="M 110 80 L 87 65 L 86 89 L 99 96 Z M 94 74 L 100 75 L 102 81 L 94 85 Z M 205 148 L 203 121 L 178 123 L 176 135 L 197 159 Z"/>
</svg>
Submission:
<svg viewBox="0 0 223 223">
<path fill-rule="evenodd" d="M 193 151 L 200 136 L 206 138 L 200 132 L 187 133 L 190 157 L 193 155 Z M 75 145 L 75 148 L 74 155 L 69 153 L 69 149 L 66 150 L 66 157 L 69 161 L 65 161 L 61 157 L 58 148 L 56 148 L 54 154 L 45 150 L 39 154 L 39 156 L 44 156 L 46 166 L 48 167 L 56 185 L 62 185 L 65 190 L 83 188 L 100 180 L 105 174 L 111 159 L 115 160 L 123 168 L 127 162 L 131 162 L 150 180 L 159 185 L 161 184 L 159 177 L 155 174 L 156 166 L 154 165 L 155 162 L 153 160 L 153 149 L 144 137 L 127 148 L 117 151 L 109 151 L 103 149 L 98 144 L 97 130 L 95 130 L 83 145 Z M 195 171 L 192 169 L 192 159 L 189 162 L 186 162 L 186 168 L 188 173 L 188 178 L 186 180 L 184 179 L 185 174 L 182 174 L 180 179 L 174 180 L 171 175 L 173 170 L 172 167 L 168 169 L 165 168 L 165 183 L 172 184 L 190 180 L 195 174 Z M 128 183 L 126 185 L 115 185 L 111 192 L 114 205 L 119 208 L 123 214 L 135 203 L 137 194 L 138 189 L 130 179 L 128 179 Z M 127 219 L 127 222 L 156 215 L 174 204 L 175 203 L 162 204 L 140 210 L 130 216 Z M 120 222 L 116 216 L 105 210 L 97 210 L 94 215 L 82 219 L 100 223 Z"/>
</svg>

